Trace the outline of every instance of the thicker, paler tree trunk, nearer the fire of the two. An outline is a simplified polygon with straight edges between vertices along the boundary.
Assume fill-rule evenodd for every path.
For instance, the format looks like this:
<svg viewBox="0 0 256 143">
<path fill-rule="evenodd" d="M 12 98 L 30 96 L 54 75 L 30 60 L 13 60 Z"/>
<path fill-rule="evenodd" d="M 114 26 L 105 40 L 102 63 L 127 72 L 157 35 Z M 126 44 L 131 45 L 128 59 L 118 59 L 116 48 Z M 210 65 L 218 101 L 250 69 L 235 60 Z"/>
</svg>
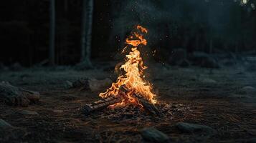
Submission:
<svg viewBox="0 0 256 143">
<path fill-rule="evenodd" d="M 91 67 L 90 52 L 93 29 L 93 0 L 82 1 L 81 66 Z"/>
</svg>

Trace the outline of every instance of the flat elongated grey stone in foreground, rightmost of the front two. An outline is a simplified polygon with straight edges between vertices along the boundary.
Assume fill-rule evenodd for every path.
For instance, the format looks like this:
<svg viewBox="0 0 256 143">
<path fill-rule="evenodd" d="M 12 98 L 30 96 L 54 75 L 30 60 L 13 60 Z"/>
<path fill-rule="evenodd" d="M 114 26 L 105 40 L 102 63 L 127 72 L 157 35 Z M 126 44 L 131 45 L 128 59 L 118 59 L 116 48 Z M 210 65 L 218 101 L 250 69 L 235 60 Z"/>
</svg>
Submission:
<svg viewBox="0 0 256 143">
<path fill-rule="evenodd" d="M 175 127 L 177 127 L 181 132 L 186 133 L 206 133 L 206 134 L 213 134 L 216 131 L 212 129 L 212 127 L 204 126 L 201 124 L 190 124 L 185 122 L 179 122 L 175 124 Z"/>
</svg>

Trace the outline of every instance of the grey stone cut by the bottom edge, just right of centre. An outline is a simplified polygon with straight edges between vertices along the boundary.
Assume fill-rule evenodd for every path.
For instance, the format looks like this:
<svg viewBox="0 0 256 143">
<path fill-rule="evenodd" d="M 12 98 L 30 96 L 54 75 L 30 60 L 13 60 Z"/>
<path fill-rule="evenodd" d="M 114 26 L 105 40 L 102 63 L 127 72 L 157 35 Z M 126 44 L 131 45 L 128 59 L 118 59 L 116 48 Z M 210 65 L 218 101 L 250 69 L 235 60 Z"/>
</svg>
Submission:
<svg viewBox="0 0 256 143">
<path fill-rule="evenodd" d="M 169 137 L 166 134 L 153 127 L 143 129 L 141 136 L 148 142 L 169 142 Z"/>
</svg>

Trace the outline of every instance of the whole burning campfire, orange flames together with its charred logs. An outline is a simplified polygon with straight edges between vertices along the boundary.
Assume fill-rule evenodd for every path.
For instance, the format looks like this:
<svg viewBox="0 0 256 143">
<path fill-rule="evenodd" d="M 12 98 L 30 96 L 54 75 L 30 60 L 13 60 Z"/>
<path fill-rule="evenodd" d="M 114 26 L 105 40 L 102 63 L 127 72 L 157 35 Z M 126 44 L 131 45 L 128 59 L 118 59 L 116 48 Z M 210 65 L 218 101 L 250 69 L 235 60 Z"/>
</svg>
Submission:
<svg viewBox="0 0 256 143">
<path fill-rule="evenodd" d="M 143 71 L 147 66 L 143 64 L 141 53 L 138 46 L 146 46 L 147 40 L 144 38 L 148 30 L 143 26 L 136 26 L 131 36 L 125 40 L 125 48 L 122 53 L 128 52 L 124 64 L 120 66 L 120 70 L 124 71 L 117 81 L 107 89 L 106 92 L 100 93 L 103 99 L 92 104 L 85 105 L 85 112 L 89 113 L 103 107 L 115 108 L 133 105 L 141 109 L 145 109 L 152 114 L 159 114 L 154 106 L 156 104 L 156 94 L 152 92 L 152 84 L 148 82 L 143 75 Z"/>
</svg>

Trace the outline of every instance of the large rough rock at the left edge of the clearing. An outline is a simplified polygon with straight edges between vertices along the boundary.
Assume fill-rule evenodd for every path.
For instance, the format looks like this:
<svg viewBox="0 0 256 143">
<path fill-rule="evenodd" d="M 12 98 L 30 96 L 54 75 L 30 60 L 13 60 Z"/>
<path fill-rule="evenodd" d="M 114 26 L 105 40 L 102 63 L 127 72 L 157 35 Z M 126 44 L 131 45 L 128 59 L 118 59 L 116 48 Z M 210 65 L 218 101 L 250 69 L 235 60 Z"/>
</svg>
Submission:
<svg viewBox="0 0 256 143">
<path fill-rule="evenodd" d="M 5 104 L 27 107 L 39 102 L 39 93 L 14 87 L 9 82 L 0 83 L 0 102 Z"/>
</svg>

